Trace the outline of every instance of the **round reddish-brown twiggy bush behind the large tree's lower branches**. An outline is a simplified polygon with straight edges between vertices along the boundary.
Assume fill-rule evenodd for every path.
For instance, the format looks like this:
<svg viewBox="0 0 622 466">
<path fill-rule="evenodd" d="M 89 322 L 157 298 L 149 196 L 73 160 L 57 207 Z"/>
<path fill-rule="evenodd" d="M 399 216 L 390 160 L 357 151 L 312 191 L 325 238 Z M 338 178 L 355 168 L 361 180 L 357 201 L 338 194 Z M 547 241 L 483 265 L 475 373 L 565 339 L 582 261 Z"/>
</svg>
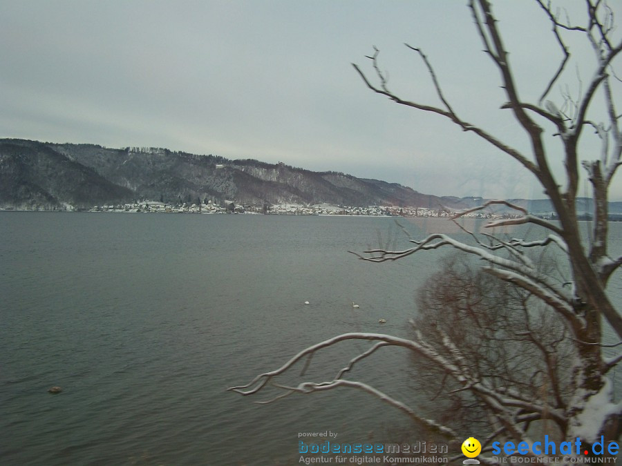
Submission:
<svg viewBox="0 0 622 466">
<path fill-rule="evenodd" d="M 515 422 L 529 429 L 541 421 L 540 430 L 565 438 L 569 426 L 559 413 L 572 398 L 574 381 L 560 362 L 576 357 L 576 349 L 563 322 L 533 293 L 507 286 L 473 267 L 464 255 L 442 262 L 418 293 L 415 338 L 423 338 L 445 360 L 485 379 L 500 394 L 511 388 L 520 400 L 554 407 L 551 414 L 516 411 Z M 552 262 L 539 262 L 541 273 L 558 275 Z M 490 400 L 464 389 L 444 367 L 421 358 L 413 358 L 413 364 L 422 381 L 417 391 L 434 401 L 433 411 L 442 423 L 455 431 L 487 433 L 484 445 L 504 429 L 489 416 Z"/>
</svg>

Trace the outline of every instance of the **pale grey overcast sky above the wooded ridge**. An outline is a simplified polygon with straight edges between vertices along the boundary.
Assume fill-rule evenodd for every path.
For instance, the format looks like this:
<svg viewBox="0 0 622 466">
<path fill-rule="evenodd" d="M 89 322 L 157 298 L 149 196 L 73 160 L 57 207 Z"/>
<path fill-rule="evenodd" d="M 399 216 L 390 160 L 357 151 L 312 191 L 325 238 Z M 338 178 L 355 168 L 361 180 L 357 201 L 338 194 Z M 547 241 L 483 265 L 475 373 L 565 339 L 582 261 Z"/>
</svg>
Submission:
<svg viewBox="0 0 622 466">
<path fill-rule="evenodd" d="M 498 3 L 520 95 L 535 102 L 560 50 L 534 1 Z M 583 0 L 565 3 L 583 24 Z M 622 2 L 610 3 L 622 21 Z M 499 110 L 498 70 L 466 0 L 0 0 L 0 137 L 280 161 L 435 195 L 544 197 L 475 135 L 364 86 L 351 63 L 372 77 L 365 55 L 377 46 L 391 90 L 438 104 L 404 43 L 428 55 L 463 119 L 528 148 Z M 589 81 L 590 54 L 576 49 L 578 65 L 550 97 L 559 106 L 561 89 Z M 547 140 L 559 168 L 558 142 Z M 583 149 L 592 158 L 600 146 L 590 136 Z M 612 197 L 622 200 L 622 182 Z"/>
</svg>

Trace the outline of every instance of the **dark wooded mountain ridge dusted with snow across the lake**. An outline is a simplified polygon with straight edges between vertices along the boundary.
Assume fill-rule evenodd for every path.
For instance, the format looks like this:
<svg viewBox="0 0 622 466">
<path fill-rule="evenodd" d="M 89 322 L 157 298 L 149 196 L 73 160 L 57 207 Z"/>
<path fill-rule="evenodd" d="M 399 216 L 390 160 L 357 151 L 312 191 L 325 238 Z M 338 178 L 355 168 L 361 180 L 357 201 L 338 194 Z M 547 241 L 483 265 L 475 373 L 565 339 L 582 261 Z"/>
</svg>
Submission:
<svg viewBox="0 0 622 466">
<path fill-rule="evenodd" d="M 481 198 L 438 197 L 378 179 L 164 148 L 105 148 L 0 139 L 0 207 L 57 210 L 135 200 L 241 205 L 339 204 L 462 209 Z M 587 204 L 591 201 L 587 200 Z M 548 200 L 516 200 L 550 212 Z M 613 210 L 622 213 L 622 202 Z M 590 204 L 591 205 L 591 204 Z M 534 209 L 534 207 L 536 207 Z M 581 210 L 581 208 L 579 209 Z M 591 211 L 591 208 L 586 211 Z"/>
</svg>

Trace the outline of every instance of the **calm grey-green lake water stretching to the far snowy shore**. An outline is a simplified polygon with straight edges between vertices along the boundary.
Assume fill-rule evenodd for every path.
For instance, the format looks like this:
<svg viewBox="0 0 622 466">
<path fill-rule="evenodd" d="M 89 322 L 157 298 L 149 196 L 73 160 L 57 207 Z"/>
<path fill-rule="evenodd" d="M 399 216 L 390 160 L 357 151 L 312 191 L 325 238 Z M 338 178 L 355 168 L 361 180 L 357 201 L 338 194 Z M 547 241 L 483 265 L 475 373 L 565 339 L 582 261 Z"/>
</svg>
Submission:
<svg viewBox="0 0 622 466">
<path fill-rule="evenodd" d="M 420 235 L 447 226 L 404 222 Z M 622 224 L 611 226 L 616 255 Z M 3 465 L 285 465 L 299 432 L 357 443 L 408 431 L 351 389 L 270 405 L 226 391 L 339 333 L 408 336 L 439 256 L 348 253 L 404 246 L 393 220 L 0 212 L 0 238 Z M 621 306 L 619 275 L 611 288 Z M 330 380 L 366 348 L 317 356 L 306 378 Z M 379 351 L 352 374 L 413 400 L 406 353 Z"/>
</svg>

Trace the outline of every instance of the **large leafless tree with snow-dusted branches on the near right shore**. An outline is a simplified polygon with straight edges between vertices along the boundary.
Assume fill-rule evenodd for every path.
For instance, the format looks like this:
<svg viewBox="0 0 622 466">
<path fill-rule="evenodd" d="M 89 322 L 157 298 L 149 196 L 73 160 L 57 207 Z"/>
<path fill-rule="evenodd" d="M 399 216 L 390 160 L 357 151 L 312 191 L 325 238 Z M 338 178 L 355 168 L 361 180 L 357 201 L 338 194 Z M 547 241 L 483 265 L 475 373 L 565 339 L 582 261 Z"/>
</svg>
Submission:
<svg viewBox="0 0 622 466">
<path fill-rule="evenodd" d="M 555 327 L 558 329 L 554 333 L 555 336 L 542 335 L 534 331 L 534 327 L 530 327 L 529 322 L 536 318 L 536 315 L 525 314 L 526 301 L 521 305 L 516 305 L 518 298 L 509 301 L 513 304 L 505 308 L 503 314 L 496 315 L 493 322 L 498 324 L 500 319 L 506 319 L 505 333 L 494 333 L 494 335 L 508 341 L 520 341 L 523 348 L 527 344 L 529 351 L 534 351 L 534 355 L 537 355 L 541 364 L 537 365 L 537 369 L 536 366 L 531 368 L 529 377 L 534 380 L 537 377 L 547 380 L 549 388 L 545 396 L 541 396 L 534 390 L 521 389 L 522 385 L 516 385 L 517 380 L 502 380 L 490 370 L 484 371 L 481 367 L 469 364 L 466 360 L 466 347 L 460 344 L 457 337 L 448 331 L 446 326 L 437 324 L 433 331 L 429 328 L 424 331 L 422 328 L 417 328 L 417 325 L 421 325 L 421 321 L 413 322 L 415 336 L 412 339 L 397 338 L 381 333 L 346 333 L 336 336 L 304 349 L 279 369 L 263 373 L 248 385 L 232 387 L 232 390 L 243 395 L 255 394 L 270 382 L 284 390 L 281 396 L 288 396 L 294 393 L 310 393 L 337 387 L 353 387 L 373 394 L 401 409 L 417 423 L 461 441 L 455 429 L 446 423 L 426 417 L 422 415 L 422 410 L 413 409 L 364 382 L 346 378 L 348 371 L 357 362 L 372 356 L 379 348 L 404 347 L 411 350 L 418 358 L 424 358 L 428 365 L 432 363 L 437 368 L 439 376 L 442 375 L 442 378 L 451 380 L 451 385 L 448 386 L 452 387 L 452 391 L 464 392 L 469 394 L 473 400 L 478 400 L 489 425 L 487 442 L 493 438 L 505 438 L 516 443 L 522 441 L 529 443 L 531 441 L 530 426 L 534 422 L 543 420 L 550 420 L 558 427 L 561 439 L 574 440 L 580 437 L 584 442 L 583 445 L 594 443 L 600 439 L 601 435 L 605 440 L 619 438 L 622 429 L 622 405 L 614 403 L 612 385 L 607 379 L 607 372 L 622 360 L 622 353 L 607 359 L 603 355 L 602 343 L 603 325 L 606 324 L 610 325 L 613 332 L 622 339 L 622 315 L 615 309 L 605 292 L 612 273 L 622 264 L 622 256 L 610 258 L 607 254 L 607 195 L 616 170 L 622 163 L 622 134 L 619 127 L 619 119 L 622 115 L 618 115 L 614 99 L 616 96 L 614 86 L 619 86 L 620 79 L 616 77 L 613 70 L 614 59 L 622 50 L 622 41 L 614 41 L 614 17 L 612 9 L 605 1 L 585 0 L 585 19 L 581 24 L 570 23 L 569 19 L 560 19 L 551 3 L 545 3 L 543 0 L 534 1 L 550 21 L 552 37 L 558 43 L 561 52 L 560 63 L 536 103 L 523 101 L 518 95 L 509 54 L 505 50 L 491 4 L 487 0 L 469 1 L 469 9 L 484 51 L 500 72 L 501 86 L 507 97 L 507 103 L 501 108 L 513 114 L 516 127 L 529 138 L 528 152 L 514 148 L 484 128 L 460 117 L 444 95 L 431 61 L 420 48 L 406 44 L 422 59 L 428 70 L 440 101 L 440 104 L 436 106 L 404 99 L 393 93 L 388 88 L 386 75 L 379 66 L 379 50 L 377 49 L 374 49 L 374 54 L 368 57 L 373 66 L 375 79 L 370 79 L 359 66 L 353 66 L 366 86 L 373 92 L 384 95 L 397 104 L 444 117 L 462 130 L 478 135 L 485 142 L 498 148 L 501 153 L 518 161 L 536 177 L 544 188 L 552 202 L 558 222 L 535 217 L 525 209 L 505 201 L 487 202 L 478 208 L 454 216 L 454 220 L 458 220 L 467 213 L 480 211 L 494 204 L 505 204 L 515 209 L 520 215 L 509 220 L 493 220 L 487 226 L 493 228 L 534 224 L 547 231 L 545 237 L 540 240 L 505 240 L 491 233 L 484 233 L 482 239 L 472 235 L 473 242 L 462 242 L 450 235 L 437 233 L 428 235 L 422 240 L 411 240 L 413 246 L 408 249 L 373 249 L 359 257 L 371 262 L 400 260 L 418 251 L 449 246 L 482 260 L 484 263 L 482 271 L 510 284 L 511 287 L 516 287 L 522 293 L 519 295 L 519 298 L 522 297 L 520 299 L 529 300 L 529 302 L 538 300 L 540 303 L 538 318 L 543 319 L 543 322 L 558 323 Z M 571 56 L 571 50 L 567 46 L 569 35 L 583 37 L 590 44 L 594 51 L 595 66 L 587 86 L 582 86 L 584 90 L 581 95 L 571 97 L 569 93 L 563 93 L 563 102 L 556 105 L 550 100 L 549 95 L 552 89 L 558 86 L 561 77 L 565 75 Z M 602 98 L 605 104 L 605 112 L 600 121 L 594 117 L 588 117 L 588 108 L 596 98 Z M 559 179 L 560 177 L 552 171 L 551 159 L 547 157 L 545 128 L 554 128 L 554 136 L 563 148 L 564 179 Z M 579 142 L 588 130 L 593 130 L 600 138 L 601 150 L 596 157 L 581 162 L 587 173 L 587 179 L 590 181 L 594 199 L 593 229 L 589 244 L 586 245 L 581 240 L 576 214 L 576 198 L 580 175 Z M 535 248 L 550 246 L 562 251 L 563 260 L 567 262 L 569 276 L 563 282 L 554 280 L 549 274 L 543 272 L 536 263 L 537 261 L 531 259 L 527 253 Z M 463 298 L 460 299 L 464 303 Z M 503 295 L 497 295 L 496 298 L 501 299 Z M 431 305 L 430 300 L 428 304 Z M 446 304 L 445 300 L 443 305 L 446 306 Z M 488 312 L 486 315 L 492 314 Z M 511 335 L 509 331 L 511 322 L 519 321 L 522 322 L 521 325 Z M 484 336 L 493 338 L 490 332 L 483 332 L 482 338 Z M 371 346 L 367 351 L 350 360 L 331 380 L 303 382 L 295 387 L 279 385 L 275 381 L 277 376 L 288 371 L 299 360 L 310 358 L 314 353 L 346 340 L 368 340 Z M 572 357 L 565 360 L 567 370 L 563 373 L 560 372 L 561 369 L 556 359 L 559 357 L 557 349 L 561 348 L 567 351 L 567 354 L 572 354 Z M 493 358 L 493 356 L 500 358 L 499 361 L 505 361 L 505 365 L 511 365 L 511 354 L 489 357 Z M 504 360 L 504 357 L 510 359 Z M 527 367 L 521 369 L 523 370 L 529 373 L 530 369 Z M 563 380 L 565 380 L 564 383 Z"/>
</svg>

